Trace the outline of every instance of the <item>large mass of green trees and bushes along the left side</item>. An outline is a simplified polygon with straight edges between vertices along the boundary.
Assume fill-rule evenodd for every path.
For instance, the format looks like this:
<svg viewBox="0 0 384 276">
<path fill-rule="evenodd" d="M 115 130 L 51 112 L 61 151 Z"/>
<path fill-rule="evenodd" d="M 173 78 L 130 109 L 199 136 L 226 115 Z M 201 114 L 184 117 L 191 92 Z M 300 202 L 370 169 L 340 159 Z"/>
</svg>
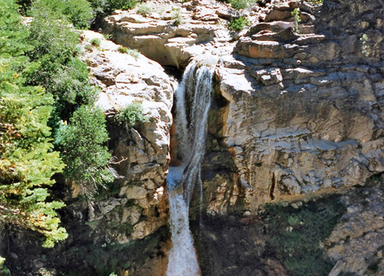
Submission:
<svg viewBox="0 0 384 276">
<path fill-rule="evenodd" d="M 42 233 L 46 247 L 67 237 L 64 204 L 48 193 L 54 175 L 88 190 L 112 180 L 105 118 L 72 26 L 88 26 L 85 2 L 33 1 L 23 26 L 15 0 L 0 0 L 0 223 Z"/>
</svg>

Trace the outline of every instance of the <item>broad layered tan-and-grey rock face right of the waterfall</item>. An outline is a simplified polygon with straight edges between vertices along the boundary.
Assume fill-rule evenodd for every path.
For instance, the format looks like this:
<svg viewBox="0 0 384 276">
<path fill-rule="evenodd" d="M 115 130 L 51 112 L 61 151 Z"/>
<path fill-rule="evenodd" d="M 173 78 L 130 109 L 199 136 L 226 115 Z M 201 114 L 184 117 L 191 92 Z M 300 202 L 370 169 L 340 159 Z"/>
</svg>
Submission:
<svg viewBox="0 0 384 276">
<path fill-rule="evenodd" d="M 222 59 L 219 90 L 228 101 L 223 141 L 234 152 L 250 210 L 334 193 L 384 170 L 378 5 L 288 2 L 239 39 L 237 55 Z M 292 19 L 272 16 L 294 7 L 317 17 L 308 13 L 299 34 Z"/>
</svg>

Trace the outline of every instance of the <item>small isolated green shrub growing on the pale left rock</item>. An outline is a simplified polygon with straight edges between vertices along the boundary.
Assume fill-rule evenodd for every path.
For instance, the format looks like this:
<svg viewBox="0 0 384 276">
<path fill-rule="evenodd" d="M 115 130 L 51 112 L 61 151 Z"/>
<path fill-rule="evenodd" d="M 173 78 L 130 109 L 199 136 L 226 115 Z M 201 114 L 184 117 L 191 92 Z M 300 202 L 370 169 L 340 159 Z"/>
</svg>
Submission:
<svg viewBox="0 0 384 276">
<path fill-rule="evenodd" d="M 117 121 L 128 130 L 137 123 L 142 124 L 149 121 L 149 118 L 143 115 L 143 111 L 141 103 L 130 103 L 117 114 Z"/>
</svg>

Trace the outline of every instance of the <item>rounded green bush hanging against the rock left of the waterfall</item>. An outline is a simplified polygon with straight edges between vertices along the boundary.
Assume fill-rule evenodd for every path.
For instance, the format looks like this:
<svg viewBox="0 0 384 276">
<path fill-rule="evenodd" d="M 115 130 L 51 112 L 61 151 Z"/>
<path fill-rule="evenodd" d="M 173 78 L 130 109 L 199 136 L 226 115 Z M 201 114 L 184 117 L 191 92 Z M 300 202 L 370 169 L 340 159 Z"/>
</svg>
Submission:
<svg viewBox="0 0 384 276">
<path fill-rule="evenodd" d="M 98 185 L 112 181 L 108 170 L 110 153 L 103 143 L 108 141 L 105 130 L 105 116 L 99 108 L 81 106 L 77 109 L 70 124 L 61 127 L 56 143 L 67 165 L 66 179 L 76 181 L 88 198 L 93 198 Z"/>
</svg>

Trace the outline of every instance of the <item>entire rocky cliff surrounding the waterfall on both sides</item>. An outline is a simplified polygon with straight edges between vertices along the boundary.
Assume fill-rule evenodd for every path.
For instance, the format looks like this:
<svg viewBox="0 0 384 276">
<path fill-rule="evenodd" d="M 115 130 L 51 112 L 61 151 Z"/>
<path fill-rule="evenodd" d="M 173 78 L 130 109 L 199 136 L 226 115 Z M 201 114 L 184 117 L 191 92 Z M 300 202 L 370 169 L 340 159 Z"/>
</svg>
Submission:
<svg viewBox="0 0 384 276">
<path fill-rule="evenodd" d="M 59 184 L 70 236 L 53 250 L 28 231 L 3 231 L 0 249 L 16 275 L 166 275 L 165 179 L 180 154 L 174 72 L 198 57 L 217 60 L 202 194 L 196 188 L 190 206 L 202 275 L 381 275 L 382 4 L 271 0 L 243 12 L 213 0 L 146 4 L 145 16 L 105 17 L 100 32 L 113 42 L 82 34 L 114 182 L 92 204 L 76 183 Z M 228 30 L 244 15 L 250 26 Z M 148 121 L 124 128 L 115 115 L 133 102 Z"/>
</svg>

